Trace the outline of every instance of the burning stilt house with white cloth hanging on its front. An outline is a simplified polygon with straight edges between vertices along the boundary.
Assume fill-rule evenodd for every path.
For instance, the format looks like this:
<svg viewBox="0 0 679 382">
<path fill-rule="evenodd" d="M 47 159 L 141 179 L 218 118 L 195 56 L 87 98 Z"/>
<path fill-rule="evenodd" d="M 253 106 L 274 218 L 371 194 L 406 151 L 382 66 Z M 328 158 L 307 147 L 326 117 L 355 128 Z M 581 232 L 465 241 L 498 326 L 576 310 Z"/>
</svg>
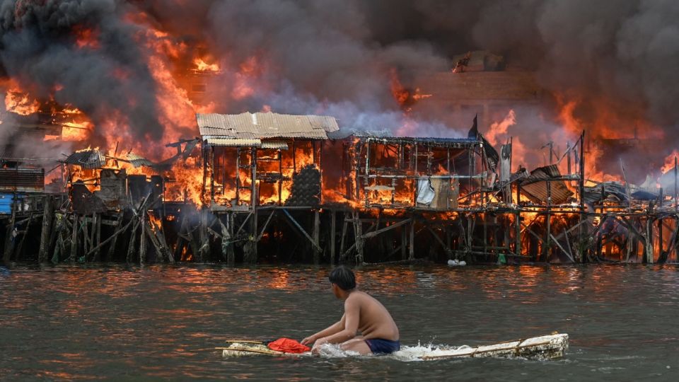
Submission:
<svg viewBox="0 0 679 382">
<path fill-rule="evenodd" d="M 342 151 L 342 161 L 336 159 L 323 167 L 325 204 L 445 211 L 457 209 L 458 200 L 465 205 L 478 201 L 479 191 L 492 181 L 482 140 L 477 137 L 412 138 L 354 132 L 333 139 L 329 146 L 325 151 Z"/>
</svg>

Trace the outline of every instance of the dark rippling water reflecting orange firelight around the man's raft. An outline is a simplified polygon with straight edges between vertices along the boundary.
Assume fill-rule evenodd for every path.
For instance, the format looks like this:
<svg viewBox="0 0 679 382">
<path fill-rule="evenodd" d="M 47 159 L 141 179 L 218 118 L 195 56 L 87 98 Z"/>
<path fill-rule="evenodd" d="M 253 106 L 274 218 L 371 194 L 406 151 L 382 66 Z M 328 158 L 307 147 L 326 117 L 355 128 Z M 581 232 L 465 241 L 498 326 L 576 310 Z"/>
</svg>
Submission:
<svg viewBox="0 0 679 382">
<path fill-rule="evenodd" d="M 224 359 L 233 337 L 301 339 L 342 314 L 327 268 L 0 267 L 0 376 L 257 380 L 678 381 L 679 268 L 387 267 L 356 272 L 405 345 L 557 330 L 564 359 Z"/>
</svg>

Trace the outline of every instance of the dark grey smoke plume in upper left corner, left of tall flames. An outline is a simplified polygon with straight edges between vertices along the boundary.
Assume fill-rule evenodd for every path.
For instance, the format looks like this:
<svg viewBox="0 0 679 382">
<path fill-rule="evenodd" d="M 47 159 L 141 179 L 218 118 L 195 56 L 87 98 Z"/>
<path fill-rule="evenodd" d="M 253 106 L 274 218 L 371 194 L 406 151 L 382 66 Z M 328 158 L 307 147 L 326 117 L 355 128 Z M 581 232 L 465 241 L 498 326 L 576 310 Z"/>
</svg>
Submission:
<svg viewBox="0 0 679 382">
<path fill-rule="evenodd" d="M 135 139 L 156 139 L 163 132 L 156 83 L 134 38 L 139 30 L 124 22 L 131 7 L 115 0 L 4 0 L 2 71 L 28 86 L 31 96 L 74 105 L 95 125 L 115 112 L 127 119 Z M 79 28 L 97 33 L 100 47 L 79 47 Z"/>
</svg>

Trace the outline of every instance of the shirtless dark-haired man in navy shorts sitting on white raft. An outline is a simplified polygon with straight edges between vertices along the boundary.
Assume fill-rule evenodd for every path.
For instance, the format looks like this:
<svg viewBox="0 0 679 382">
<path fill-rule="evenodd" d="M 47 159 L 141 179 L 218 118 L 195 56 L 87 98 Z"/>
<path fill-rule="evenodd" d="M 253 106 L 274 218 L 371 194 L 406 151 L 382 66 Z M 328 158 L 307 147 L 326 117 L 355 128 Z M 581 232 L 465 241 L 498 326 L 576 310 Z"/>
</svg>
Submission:
<svg viewBox="0 0 679 382">
<path fill-rule="evenodd" d="M 344 316 L 301 343 L 313 343 L 314 353 L 318 353 L 320 345 L 326 343 L 341 343 L 342 350 L 360 354 L 390 354 L 399 350 L 401 344 L 396 323 L 380 301 L 356 289 L 354 272 L 341 265 L 332 270 L 328 278 L 332 293 L 337 299 L 344 300 Z"/>
</svg>

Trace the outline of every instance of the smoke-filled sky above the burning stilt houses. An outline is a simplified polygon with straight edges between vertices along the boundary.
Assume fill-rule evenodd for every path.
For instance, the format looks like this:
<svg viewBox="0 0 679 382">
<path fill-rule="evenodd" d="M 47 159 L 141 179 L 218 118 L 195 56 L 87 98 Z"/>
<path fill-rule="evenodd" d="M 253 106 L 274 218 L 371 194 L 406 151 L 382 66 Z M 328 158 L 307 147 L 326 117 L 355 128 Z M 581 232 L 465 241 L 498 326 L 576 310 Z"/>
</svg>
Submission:
<svg viewBox="0 0 679 382">
<path fill-rule="evenodd" d="M 130 13 L 148 17 L 131 23 Z M 219 112 L 325 107 L 345 110 L 352 124 L 374 123 L 366 113 L 399 112 L 391 69 L 417 86 L 409 73 L 448 71 L 455 54 L 489 50 L 536 71 L 547 91 L 579 100 L 584 118 L 605 100 L 613 113 L 671 131 L 679 120 L 677 20 L 679 2 L 669 0 L 5 0 L 0 59 L 6 74 L 30 80 L 43 95 L 64 85 L 57 101 L 95 119 L 123 112 L 139 137 L 159 137 L 161 129 L 156 83 L 135 39 L 149 25 L 205 45 L 227 68 L 263 58 L 255 95 L 226 99 L 228 73 L 214 85 L 224 94 Z M 98 30 L 100 50 L 74 45 L 76 25 Z"/>
</svg>

